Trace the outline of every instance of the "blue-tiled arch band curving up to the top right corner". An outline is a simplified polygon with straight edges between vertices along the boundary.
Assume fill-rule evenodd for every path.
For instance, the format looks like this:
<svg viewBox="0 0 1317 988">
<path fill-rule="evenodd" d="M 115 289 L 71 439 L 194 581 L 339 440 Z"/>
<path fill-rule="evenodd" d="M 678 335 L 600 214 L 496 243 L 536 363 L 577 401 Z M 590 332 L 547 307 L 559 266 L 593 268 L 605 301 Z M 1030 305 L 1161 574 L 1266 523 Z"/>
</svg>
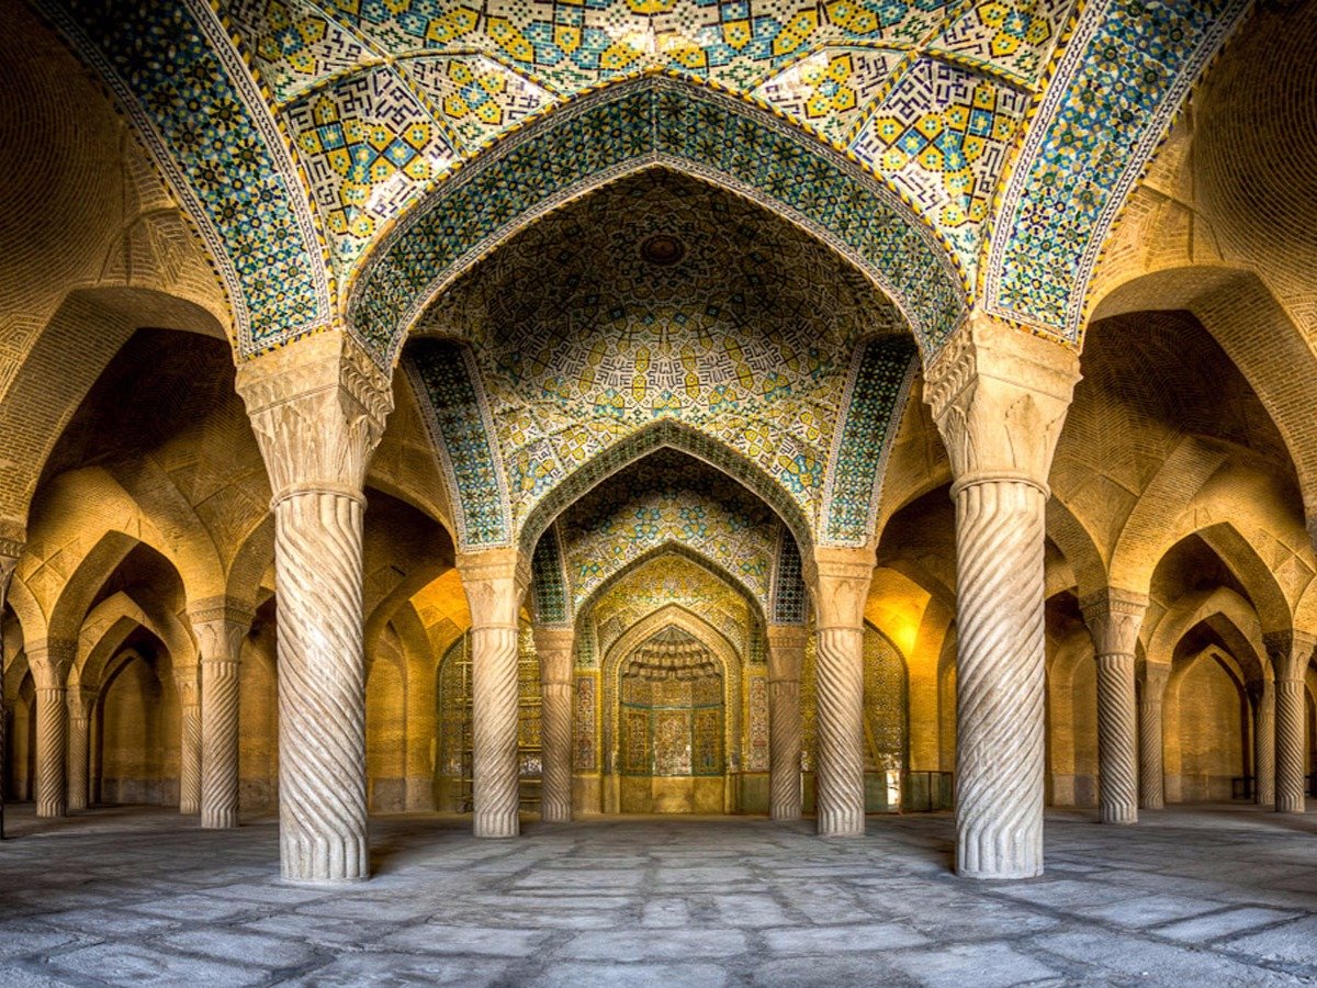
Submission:
<svg viewBox="0 0 1317 988">
<path fill-rule="evenodd" d="M 1075 341 L 1102 242 L 1246 0 L 1097 0 L 1034 113 L 984 265 L 988 311 Z"/>
</svg>

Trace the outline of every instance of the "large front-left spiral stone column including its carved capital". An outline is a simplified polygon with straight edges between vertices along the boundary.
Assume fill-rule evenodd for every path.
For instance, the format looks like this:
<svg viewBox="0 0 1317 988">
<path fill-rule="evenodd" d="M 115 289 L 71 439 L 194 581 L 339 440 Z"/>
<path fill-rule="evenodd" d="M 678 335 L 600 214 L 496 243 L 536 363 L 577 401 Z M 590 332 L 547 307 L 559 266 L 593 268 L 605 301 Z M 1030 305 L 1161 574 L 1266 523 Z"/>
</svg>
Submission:
<svg viewBox="0 0 1317 988">
<path fill-rule="evenodd" d="M 333 331 L 246 361 L 237 387 L 274 491 L 282 873 L 365 879 L 362 487 L 389 375 Z M 203 672 L 203 761 L 208 689 Z"/>
</svg>

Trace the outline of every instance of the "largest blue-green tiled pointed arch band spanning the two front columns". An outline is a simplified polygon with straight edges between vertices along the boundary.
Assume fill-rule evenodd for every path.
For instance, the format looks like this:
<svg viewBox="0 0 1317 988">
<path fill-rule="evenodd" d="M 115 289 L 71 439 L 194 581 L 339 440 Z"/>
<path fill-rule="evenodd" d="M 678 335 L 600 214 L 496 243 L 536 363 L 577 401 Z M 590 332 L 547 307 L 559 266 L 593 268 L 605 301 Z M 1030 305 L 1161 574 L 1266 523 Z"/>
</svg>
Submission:
<svg viewBox="0 0 1317 988">
<path fill-rule="evenodd" d="M 583 97 L 443 183 L 371 252 L 350 290 L 352 325 L 391 356 L 441 288 L 528 220 L 607 179 L 668 162 L 831 245 L 882 288 L 926 352 L 959 325 L 961 275 L 893 190 L 820 153 L 788 123 L 657 76 Z"/>
</svg>

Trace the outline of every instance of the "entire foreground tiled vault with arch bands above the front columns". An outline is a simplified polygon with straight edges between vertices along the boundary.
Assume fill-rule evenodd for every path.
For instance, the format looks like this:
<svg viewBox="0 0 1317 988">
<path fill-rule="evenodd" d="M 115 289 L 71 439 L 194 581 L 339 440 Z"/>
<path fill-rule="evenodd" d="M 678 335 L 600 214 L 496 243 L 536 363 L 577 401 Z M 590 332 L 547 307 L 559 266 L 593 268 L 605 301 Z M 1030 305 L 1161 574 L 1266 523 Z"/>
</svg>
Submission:
<svg viewBox="0 0 1317 988">
<path fill-rule="evenodd" d="M 240 356 L 346 303 L 381 364 L 499 231 L 665 155 L 856 261 L 926 358 L 976 304 L 1075 343 L 1117 212 L 1247 9 L 37 3 L 192 216 Z"/>
</svg>

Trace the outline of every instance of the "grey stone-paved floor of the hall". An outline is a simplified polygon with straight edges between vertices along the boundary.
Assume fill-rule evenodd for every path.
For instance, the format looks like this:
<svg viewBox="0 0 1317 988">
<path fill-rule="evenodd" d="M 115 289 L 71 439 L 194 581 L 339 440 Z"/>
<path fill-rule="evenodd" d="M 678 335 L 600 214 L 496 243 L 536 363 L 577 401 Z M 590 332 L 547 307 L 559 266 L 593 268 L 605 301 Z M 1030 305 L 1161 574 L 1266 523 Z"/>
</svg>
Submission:
<svg viewBox="0 0 1317 988">
<path fill-rule="evenodd" d="M 1317 981 L 1317 817 L 1047 822 L 1047 876 L 961 881 L 947 815 L 371 823 L 375 877 L 277 880 L 277 826 L 36 821 L 0 844 L 0 985 L 1255 985 Z"/>
</svg>

